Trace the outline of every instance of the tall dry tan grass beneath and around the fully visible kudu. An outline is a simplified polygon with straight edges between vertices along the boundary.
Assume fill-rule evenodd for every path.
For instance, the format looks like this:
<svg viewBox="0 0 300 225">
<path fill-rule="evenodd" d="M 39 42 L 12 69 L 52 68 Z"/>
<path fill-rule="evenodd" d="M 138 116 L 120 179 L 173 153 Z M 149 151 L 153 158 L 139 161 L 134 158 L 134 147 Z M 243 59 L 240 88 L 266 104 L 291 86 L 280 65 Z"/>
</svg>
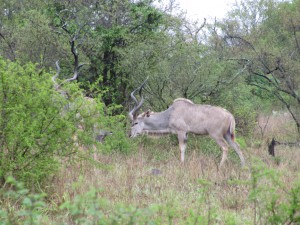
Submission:
<svg viewBox="0 0 300 225">
<path fill-rule="evenodd" d="M 221 169 L 221 152 L 216 154 L 214 145 L 206 145 L 214 153 L 208 154 L 210 149 L 203 151 L 201 137 L 188 141 L 184 164 L 179 161 L 179 149 L 172 138 L 138 139 L 138 150 L 132 154 L 98 154 L 96 163 L 81 161 L 65 166 L 53 179 L 53 194 L 49 199 L 53 205 L 59 206 L 66 199 L 83 194 L 93 186 L 101 188 L 101 197 L 112 205 L 147 207 L 158 204 L 176 208 L 177 219 L 174 221 L 178 224 L 190 210 L 198 209 L 203 213 L 211 207 L 224 215 L 235 215 L 236 224 L 253 224 L 249 222 L 253 221 L 254 211 L 249 200 L 253 187 L 249 182 L 256 159 L 265 168 L 274 169 L 282 175 L 278 182 L 284 184 L 285 190 L 292 188 L 300 171 L 299 147 L 276 146 L 275 159 L 267 151 L 270 138 L 284 140 L 296 136 L 291 118 L 286 114 L 260 116 L 253 136 L 261 144 L 250 141 L 248 147 L 243 149 L 247 166 L 241 168 L 232 153 Z M 245 182 L 235 183 L 236 180 Z M 219 224 L 226 224 L 222 221 L 224 215 L 219 215 Z"/>
</svg>

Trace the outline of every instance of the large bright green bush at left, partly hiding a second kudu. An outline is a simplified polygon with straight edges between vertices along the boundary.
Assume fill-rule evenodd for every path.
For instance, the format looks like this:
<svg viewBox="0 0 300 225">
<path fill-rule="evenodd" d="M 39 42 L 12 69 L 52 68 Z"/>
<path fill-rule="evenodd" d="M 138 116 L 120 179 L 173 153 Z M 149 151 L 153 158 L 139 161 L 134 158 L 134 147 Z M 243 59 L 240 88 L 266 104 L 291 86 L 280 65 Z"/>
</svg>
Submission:
<svg viewBox="0 0 300 225">
<path fill-rule="evenodd" d="M 11 174 L 34 186 L 55 173 L 78 144 L 94 142 L 101 105 L 88 104 L 75 84 L 65 86 L 66 99 L 33 64 L 0 59 L 0 71 L 0 177 Z"/>
</svg>

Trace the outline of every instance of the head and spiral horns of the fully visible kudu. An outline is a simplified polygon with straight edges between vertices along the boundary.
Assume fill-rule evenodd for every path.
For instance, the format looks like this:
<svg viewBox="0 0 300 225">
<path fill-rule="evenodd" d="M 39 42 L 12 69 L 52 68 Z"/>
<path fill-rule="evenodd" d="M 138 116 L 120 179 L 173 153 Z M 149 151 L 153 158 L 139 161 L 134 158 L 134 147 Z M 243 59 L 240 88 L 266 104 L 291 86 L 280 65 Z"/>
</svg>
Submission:
<svg viewBox="0 0 300 225">
<path fill-rule="evenodd" d="M 139 134 L 143 133 L 144 129 L 144 118 L 147 115 L 146 113 L 143 113 L 141 115 L 138 115 L 140 108 L 142 107 L 144 103 L 144 97 L 142 96 L 142 89 L 145 86 L 148 78 L 142 83 L 140 87 L 135 89 L 133 92 L 131 92 L 130 96 L 135 102 L 133 109 L 128 113 L 129 119 L 131 121 L 131 132 L 130 132 L 130 137 L 136 137 Z M 139 91 L 140 95 L 140 102 L 136 99 L 134 96 L 134 93 L 136 91 Z"/>
</svg>

